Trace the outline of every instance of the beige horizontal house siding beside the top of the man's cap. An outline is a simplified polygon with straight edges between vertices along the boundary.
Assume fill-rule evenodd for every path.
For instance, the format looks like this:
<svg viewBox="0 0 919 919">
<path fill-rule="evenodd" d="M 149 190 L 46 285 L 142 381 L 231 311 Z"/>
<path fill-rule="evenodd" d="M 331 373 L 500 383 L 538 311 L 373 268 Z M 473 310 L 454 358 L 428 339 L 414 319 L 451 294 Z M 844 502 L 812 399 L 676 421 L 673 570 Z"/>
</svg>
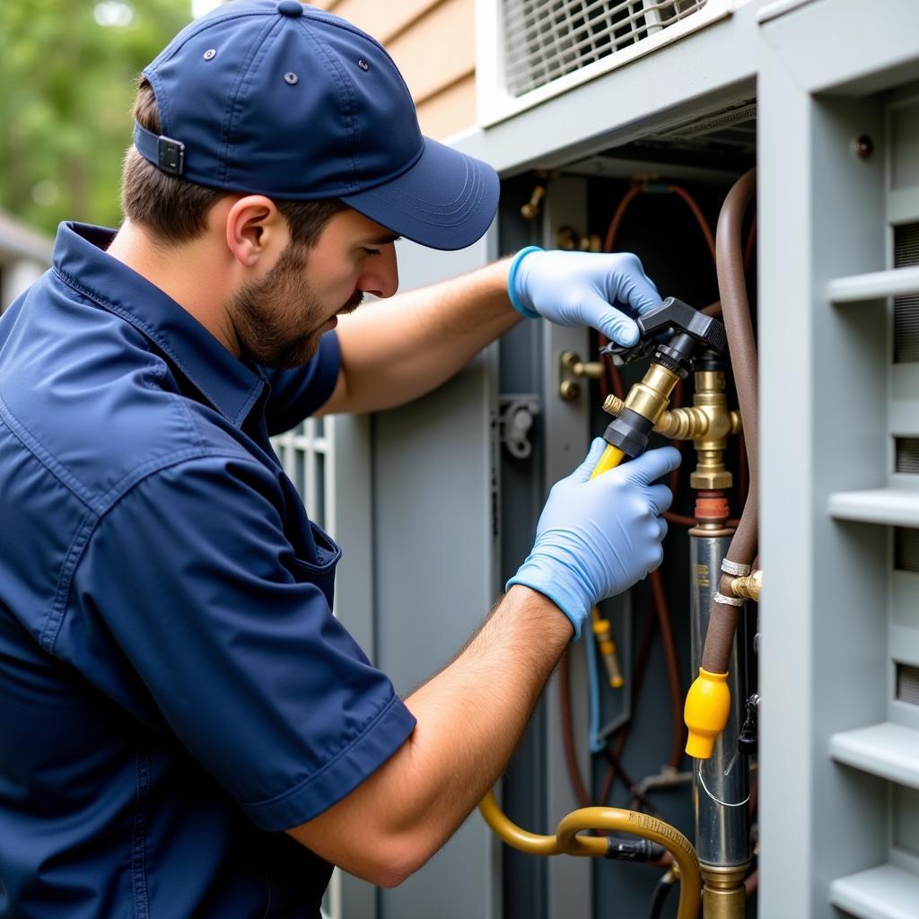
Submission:
<svg viewBox="0 0 919 919">
<path fill-rule="evenodd" d="M 475 0 L 314 0 L 313 6 L 386 47 L 429 137 L 442 140 L 475 124 Z"/>
</svg>

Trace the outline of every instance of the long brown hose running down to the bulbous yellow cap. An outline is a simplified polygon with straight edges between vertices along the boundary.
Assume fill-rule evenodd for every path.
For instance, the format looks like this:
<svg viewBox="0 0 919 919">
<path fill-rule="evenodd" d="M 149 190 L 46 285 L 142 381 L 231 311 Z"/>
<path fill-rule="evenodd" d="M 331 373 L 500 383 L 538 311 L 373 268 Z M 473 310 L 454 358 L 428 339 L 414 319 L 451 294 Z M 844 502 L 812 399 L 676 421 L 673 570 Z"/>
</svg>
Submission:
<svg viewBox="0 0 919 919">
<path fill-rule="evenodd" d="M 737 387 L 737 401 L 743 418 L 743 436 L 746 440 L 750 467 L 750 491 L 737 531 L 731 540 L 727 560 L 738 565 L 754 561 L 759 523 L 759 413 L 757 395 L 756 342 L 750 303 L 747 300 L 746 278 L 743 271 L 741 230 L 743 212 L 756 191 L 756 170 L 742 176 L 724 199 L 718 218 L 716 234 L 716 263 L 721 313 L 728 333 L 731 365 Z M 719 592 L 733 596 L 731 582 L 735 574 L 721 573 Z M 709 631 L 702 652 L 702 667 L 710 674 L 726 674 L 731 660 L 734 631 L 742 607 L 715 602 L 711 608 Z"/>
</svg>

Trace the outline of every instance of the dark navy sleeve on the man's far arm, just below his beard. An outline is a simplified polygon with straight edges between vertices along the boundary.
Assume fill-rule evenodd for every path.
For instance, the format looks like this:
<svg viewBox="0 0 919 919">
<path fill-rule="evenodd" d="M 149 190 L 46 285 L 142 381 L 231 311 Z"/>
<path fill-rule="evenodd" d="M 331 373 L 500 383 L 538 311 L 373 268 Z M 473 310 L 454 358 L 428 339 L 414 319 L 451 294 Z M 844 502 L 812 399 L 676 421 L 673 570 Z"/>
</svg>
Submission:
<svg viewBox="0 0 919 919">
<path fill-rule="evenodd" d="M 319 350 L 303 367 L 261 369 L 271 387 L 265 414 L 272 437 L 299 425 L 329 401 L 341 362 L 338 335 L 333 331 L 323 335 Z"/>
</svg>

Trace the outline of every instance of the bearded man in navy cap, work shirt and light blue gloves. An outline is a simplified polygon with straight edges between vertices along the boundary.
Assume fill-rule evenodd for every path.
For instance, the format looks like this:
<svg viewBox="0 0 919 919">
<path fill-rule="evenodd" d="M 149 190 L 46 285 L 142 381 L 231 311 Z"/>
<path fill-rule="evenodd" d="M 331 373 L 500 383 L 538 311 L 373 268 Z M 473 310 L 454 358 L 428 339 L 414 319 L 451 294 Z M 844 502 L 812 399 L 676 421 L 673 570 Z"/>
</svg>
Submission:
<svg viewBox="0 0 919 919">
<path fill-rule="evenodd" d="M 597 441 L 403 701 L 269 435 L 430 391 L 521 312 L 628 341 L 609 303 L 658 297 L 634 256 L 527 250 L 349 315 L 395 293 L 397 234 L 479 238 L 497 180 L 295 0 L 188 27 L 135 119 L 118 233 L 62 224 L 0 321 L 0 912 L 312 916 L 333 864 L 397 884 L 492 786 L 590 607 L 660 562 L 677 455 L 588 482 Z"/>
</svg>

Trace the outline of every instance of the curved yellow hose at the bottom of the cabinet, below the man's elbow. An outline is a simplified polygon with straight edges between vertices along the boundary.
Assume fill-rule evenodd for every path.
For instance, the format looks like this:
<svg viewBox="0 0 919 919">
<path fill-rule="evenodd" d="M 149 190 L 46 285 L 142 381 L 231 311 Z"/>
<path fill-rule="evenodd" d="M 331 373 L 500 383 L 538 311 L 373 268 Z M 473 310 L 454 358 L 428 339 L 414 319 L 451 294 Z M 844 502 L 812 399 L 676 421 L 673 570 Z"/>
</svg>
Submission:
<svg viewBox="0 0 919 919">
<path fill-rule="evenodd" d="M 605 857 L 607 840 L 603 836 L 579 836 L 583 830 L 611 830 L 650 839 L 663 845 L 680 870 L 680 902 L 677 919 L 696 919 L 701 905 L 702 876 L 692 843 L 669 823 L 646 813 L 622 811 L 613 807 L 585 807 L 562 818 L 554 836 L 543 836 L 521 829 L 498 807 L 494 791 L 479 802 L 485 823 L 507 845 L 538 856 Z"/>
</svg>

